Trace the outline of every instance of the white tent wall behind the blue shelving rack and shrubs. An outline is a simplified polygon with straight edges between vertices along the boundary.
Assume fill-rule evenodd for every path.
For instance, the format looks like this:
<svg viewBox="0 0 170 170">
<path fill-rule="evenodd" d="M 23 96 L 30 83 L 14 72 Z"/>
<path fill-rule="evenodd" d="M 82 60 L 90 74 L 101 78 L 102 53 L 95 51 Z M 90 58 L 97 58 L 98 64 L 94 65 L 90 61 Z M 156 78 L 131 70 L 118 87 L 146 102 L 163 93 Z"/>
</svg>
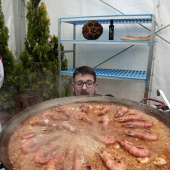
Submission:
<svg viewBox="0 0 170 170">
<path fill-rule="evenodd" d="M 17 1 L 17 0 L 15 0 Z M 21 1 L 21 0 L 18 0 Z M 26 3 L 26 0 L 22 0 Z M 89 15 L 108 15 L 108 14 L 155 14 L 158 31 L 155 36 L 155 49 L 153 60 L 153 76 L 150 87 L 150 97 L 162 100 L 158 97 L 156 91 L 162 89 L 170 100 L 170 77 L 169 77 L 169 54 L 170 54 L 170 27 L 169 25 L 169 0 L 74 0 L 70 3 L 69 0 L 42 0 L 47 7 L 48 15 L 51 19 L 51 34 L 58 35 L 58 18 L 68 16 L 89 16 Z M 12 11 L 6 6 L 12 5 L 11 0 L 2 0 L 3 11 L 5 13 L 5 21 L 8 28 L 13 24 L 10 18 L 13 16 Z M 7 12 L 8 11 L 8 12 Z M 9 16 L 8 16 L 8 15 Z M 167 27 L 166 27 L 167 26 Z M 166 28 L 164 28 L 166 27 Z M 104 33 L 100 39 L 108 39 L 108 25 L 103 25 Z M 148 27 L 149 28 L 149 27 Z M 161 30 L 162 29 L 162 30 Z M 77 38 L 83 39 L 82 27 L 77 28 Z M 119 32 L 121 30 L 121 33 Z M 14 31 L 10 31 L 10 41 Z M 123 27 L 115 25 L 115 39 L 121 35 L 145 36 L 150 35 L 150 32 L 140 26 Z M 66 25 L 62 27 L 62 37 L 71 39 L 73 36 L 72 27 Z M 12 40 L 11 40 L 12 39 Z M 10 42 L 9 41 L 9 42 Z M 17 43 L 17 42 L 16 42 Z M 70 49 L 71 45 L 65 45 L 65 49 Z M 11 49 L 15 49 L 15 44 L 10 45 Z M 76 66 L 89 65 L 98 68 L 120 68 L 120 69 L 137 69 L 145 70 L 147 68 L 148 47 L 135 46 L 120 55 L 109 59 L 119 53 L 127 46 L 111 46 L 111 45 L 78 45 L 76 48 Z M 13 51 L 13 50 L 12 50 Z M 68 59 L 68 67 L 72 68 L 72 54 L 66 53 Z M 144 97 L 145 83 L 142 81 L 129 80 L 113 80 L 113 79 L 98 79 L 98 93 L 113 94 L 115 97 L 127 98 L 135 101 L 140 101 Z"/>
</svg>

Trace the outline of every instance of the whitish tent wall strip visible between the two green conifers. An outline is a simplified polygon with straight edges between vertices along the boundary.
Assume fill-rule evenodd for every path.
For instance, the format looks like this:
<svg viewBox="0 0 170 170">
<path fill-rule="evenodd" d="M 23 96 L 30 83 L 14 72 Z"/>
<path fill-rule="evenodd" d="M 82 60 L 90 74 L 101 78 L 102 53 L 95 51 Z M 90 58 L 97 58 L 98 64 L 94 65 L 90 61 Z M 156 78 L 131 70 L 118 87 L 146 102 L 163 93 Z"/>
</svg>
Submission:
<svg viewBox="0 0 170 170">
<path fill-rule="evenodd" d="M 9 30 L 9 49 L 15 58 L 24 48 L 26 35 L 25 4 L 24 0 L 1 0 L 2 11 L 5 16 L 5 25 Z"/>
</svg>

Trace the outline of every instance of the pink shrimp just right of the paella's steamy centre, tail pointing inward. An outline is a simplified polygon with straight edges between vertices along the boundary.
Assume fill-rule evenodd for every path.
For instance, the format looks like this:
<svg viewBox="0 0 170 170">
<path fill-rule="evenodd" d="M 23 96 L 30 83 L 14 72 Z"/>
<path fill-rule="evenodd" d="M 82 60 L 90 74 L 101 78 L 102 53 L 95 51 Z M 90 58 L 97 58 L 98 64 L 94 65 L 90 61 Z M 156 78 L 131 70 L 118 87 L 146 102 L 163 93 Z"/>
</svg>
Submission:
<svg viewBox="0 0 170 170">
<path fill-rule="evenodd" d="M 99 142 L 104 143 L 105 145 L 112 145 L 117 141 L 114 136 L 102 136 L 102 135 L 92 134 L 92 138 Z"/>
</svg>

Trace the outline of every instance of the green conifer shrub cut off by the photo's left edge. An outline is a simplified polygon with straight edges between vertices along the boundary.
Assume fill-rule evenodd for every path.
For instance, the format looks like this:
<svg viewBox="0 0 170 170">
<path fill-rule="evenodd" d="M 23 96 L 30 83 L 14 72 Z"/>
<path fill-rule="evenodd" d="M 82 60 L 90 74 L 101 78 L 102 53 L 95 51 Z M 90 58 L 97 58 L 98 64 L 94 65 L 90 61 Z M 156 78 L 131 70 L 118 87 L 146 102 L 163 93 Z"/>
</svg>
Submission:
<svg viewBox="0 0 170 170">
<path fill-rule="evenodd" d="M 0 55 L 2 56 L 4 66 L 4 82 L 0 89 L 0 110 L 12 112 L 15 106 L 14 95 L 15 84 L 15 59 L 8 48 L 8 28 L 5 26 L 4 15 L 2 12 L 0 0 Z"/>
</svg>

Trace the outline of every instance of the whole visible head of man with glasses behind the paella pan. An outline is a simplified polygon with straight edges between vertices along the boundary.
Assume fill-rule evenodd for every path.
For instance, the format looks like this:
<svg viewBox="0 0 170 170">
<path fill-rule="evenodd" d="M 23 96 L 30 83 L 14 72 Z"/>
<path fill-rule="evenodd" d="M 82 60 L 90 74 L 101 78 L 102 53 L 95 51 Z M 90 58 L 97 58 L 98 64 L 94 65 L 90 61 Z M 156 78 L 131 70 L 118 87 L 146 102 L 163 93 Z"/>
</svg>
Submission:
<svg viewBox="0 0 170 170">
<path fill-rule="evenodd" d="M 93 96 L 97 90 L 95 71 L 88 66 L 77 68 L 73 73 L 72 90 L 75 96 Z"/>
</svg>

